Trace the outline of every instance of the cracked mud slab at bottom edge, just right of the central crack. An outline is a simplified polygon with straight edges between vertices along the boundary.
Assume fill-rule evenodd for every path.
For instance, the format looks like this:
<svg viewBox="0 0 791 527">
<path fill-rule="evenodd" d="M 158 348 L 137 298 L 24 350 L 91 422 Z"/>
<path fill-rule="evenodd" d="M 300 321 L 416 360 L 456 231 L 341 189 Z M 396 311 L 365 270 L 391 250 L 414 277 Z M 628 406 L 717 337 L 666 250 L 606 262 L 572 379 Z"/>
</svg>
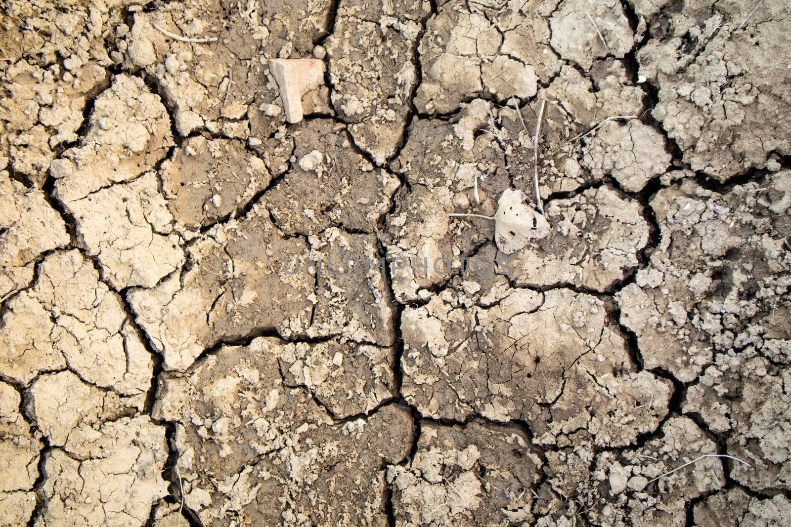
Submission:
<svg viewBox="0 0 791 527">
<path fill-rule="evenodd" d="M 532 521 L 542 461 L 513 425 L 426 423 L 406 466 L 388 467 L 396 522 L 490 525 Z"/>
</svg>

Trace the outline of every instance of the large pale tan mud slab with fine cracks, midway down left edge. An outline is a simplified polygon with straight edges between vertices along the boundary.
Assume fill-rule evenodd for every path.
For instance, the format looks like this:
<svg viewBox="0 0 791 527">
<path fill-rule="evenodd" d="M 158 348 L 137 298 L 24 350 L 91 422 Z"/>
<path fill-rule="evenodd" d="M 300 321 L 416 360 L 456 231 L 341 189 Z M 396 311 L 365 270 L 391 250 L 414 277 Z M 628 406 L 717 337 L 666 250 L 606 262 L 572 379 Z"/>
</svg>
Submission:
<svg viewBox="0 0 791 527">
<path fill-rule="evenodd" d="M 28 386 L 41 381 L 40 373 L 68 369 L 110 390 L 108 397 L 117 394 L 142 405 L 153 360 L 119 295 L 77 250 L 50 254 L 38 271 L 36 283 L 4 306 L 0 375 Z"/>
</svg>

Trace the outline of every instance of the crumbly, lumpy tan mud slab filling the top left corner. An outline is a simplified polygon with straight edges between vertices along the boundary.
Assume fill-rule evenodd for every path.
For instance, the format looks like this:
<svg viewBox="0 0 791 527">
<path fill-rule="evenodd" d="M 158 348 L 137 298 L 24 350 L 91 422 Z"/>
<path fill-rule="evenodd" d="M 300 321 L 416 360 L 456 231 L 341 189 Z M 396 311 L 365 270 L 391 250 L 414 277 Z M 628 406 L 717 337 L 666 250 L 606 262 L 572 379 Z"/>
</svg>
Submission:
<svg viewBox="0 0 791 527">
<path fill-rule="evenodd" d="M 119 9 L 9 2 L 2 17 L 2 155 L 41 185 L 63 145 L 78 140 L 83 111 L 108 77 L 104 34 Z"/>
</svg>

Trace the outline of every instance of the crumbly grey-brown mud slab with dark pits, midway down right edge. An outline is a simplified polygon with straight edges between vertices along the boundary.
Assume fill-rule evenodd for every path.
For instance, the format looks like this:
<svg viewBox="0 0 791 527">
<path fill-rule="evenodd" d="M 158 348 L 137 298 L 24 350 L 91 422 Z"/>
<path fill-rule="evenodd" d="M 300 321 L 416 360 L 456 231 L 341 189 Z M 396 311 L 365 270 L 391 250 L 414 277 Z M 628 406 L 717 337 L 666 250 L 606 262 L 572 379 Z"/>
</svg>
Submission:
<svg viewBox="0 0 791 527">
<path fill-rule="evenodd" d="M 789 175 L 725 194 L 687 180 L 653 198 L 660 245 L 617 295 L 646 367 L 691 382 L 713 352 L 787 362 Z"/>
</svg>

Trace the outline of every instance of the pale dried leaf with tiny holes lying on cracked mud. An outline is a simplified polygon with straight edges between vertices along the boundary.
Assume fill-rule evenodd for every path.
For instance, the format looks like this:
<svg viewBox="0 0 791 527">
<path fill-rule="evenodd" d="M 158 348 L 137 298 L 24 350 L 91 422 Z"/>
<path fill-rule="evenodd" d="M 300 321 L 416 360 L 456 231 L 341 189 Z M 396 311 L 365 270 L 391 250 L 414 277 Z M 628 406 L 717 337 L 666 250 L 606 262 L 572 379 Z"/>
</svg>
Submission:
<svg viewBox="0 0 791 527">
<path fill-rule="evenodd" d="M 545 238 L 550 226 L 542 214 L 525 205 L 524 192 L 506 189 L 498 201 L 494 214 L 494 240 L 505 254 L 522 249 L 531 239 Z"/>
</svg>

